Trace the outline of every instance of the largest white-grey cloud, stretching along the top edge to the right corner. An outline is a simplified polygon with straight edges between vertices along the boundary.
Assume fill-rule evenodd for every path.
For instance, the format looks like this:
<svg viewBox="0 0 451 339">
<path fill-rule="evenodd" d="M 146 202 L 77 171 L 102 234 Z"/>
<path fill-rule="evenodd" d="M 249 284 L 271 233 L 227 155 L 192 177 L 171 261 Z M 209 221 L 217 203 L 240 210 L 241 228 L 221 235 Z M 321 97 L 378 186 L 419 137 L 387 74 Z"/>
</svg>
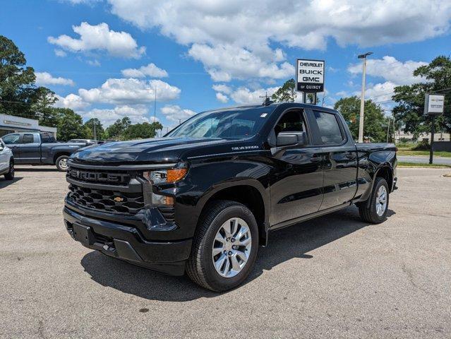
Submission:
<svg viewBox="0 0 451 339">
<path fill-rule="evenodd" d="M 181 44 L 241 46 L 284 42 L 324 49 L 327 38 L 362 46 L 411 42 L 449 28 L 451 4 L 441 0 L 109 0 L 112 12 L 140 28 L 160 28 Z M 168 15 L 171 13 L 171 15 Z"/>
</svg>

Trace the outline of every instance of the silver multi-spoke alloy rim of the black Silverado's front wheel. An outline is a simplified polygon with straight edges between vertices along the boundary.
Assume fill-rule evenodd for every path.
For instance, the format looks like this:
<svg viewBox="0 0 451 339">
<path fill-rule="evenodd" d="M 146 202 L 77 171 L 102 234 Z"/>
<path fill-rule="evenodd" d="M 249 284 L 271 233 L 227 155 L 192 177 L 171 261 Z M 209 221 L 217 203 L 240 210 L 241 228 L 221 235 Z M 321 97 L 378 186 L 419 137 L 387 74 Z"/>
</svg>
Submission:
<svg viewBox="0 0 451 339">
<path fill-rule="evenodd" d="M 231 218 L 217 231 L 212 246 L 213 265 L 224 278 L 241 272 L 251 254 L 252 238 L 248 224 L 241 218 Z"/>
</svg>

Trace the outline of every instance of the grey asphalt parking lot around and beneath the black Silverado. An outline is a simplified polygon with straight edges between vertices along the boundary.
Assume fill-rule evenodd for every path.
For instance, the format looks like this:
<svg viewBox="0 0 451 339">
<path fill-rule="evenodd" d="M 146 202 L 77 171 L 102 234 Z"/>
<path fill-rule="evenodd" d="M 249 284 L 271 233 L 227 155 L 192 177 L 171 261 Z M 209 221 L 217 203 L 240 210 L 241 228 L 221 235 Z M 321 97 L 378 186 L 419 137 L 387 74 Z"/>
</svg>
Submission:
<svg viewBox="0 0 451 339">
<path fill-rule="evenodd" d="M 0 338 L 450 338 L 451 169 L 398 169 L 381 225 L 356 208 L 275 232 L 224 294 L 85 249 L 64 174 L 0 179 Z"/>
</svg>

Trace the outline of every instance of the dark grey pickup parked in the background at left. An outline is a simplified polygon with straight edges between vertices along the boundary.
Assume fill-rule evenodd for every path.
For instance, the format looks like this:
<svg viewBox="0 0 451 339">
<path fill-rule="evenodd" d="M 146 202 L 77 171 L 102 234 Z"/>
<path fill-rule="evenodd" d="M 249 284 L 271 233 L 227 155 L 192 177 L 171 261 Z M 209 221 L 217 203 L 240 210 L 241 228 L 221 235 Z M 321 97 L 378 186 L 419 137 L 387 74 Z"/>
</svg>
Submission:
<svg viewBox="0 0 451 339">
<path fill-rule="evenodd" d="M 11 148 L 16 165 L 56 165 L 61 172 L 67 170 L 69 156 L 86 143 L 57 143 L 50 133 L 21 132 L 1 137 Z"/>
</svg>

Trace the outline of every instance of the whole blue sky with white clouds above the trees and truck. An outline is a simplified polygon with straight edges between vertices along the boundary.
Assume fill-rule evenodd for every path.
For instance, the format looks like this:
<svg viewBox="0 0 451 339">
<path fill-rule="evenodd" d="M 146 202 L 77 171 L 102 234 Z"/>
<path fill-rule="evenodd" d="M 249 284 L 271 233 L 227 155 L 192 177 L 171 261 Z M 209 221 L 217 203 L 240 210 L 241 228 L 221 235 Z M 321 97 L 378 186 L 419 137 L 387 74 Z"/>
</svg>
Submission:
<svg viewBox="0 0 451 339">
<path fill-rule="evenodd" d="M 366 51 L 366 97 L 390 110 L 395 85 L 421 81 L 411 71 L 451 47 L 447 1 L 15 0 L 2 12 L 0 34 L 57 105 L 106 125 L 152 119 L 155 88 L 168 128 L 205 109 L 260 102 L 294 77 L 296 58 L 325 60 L 333 105 L 359 95 L 356 56 Z"/>
</svg>

